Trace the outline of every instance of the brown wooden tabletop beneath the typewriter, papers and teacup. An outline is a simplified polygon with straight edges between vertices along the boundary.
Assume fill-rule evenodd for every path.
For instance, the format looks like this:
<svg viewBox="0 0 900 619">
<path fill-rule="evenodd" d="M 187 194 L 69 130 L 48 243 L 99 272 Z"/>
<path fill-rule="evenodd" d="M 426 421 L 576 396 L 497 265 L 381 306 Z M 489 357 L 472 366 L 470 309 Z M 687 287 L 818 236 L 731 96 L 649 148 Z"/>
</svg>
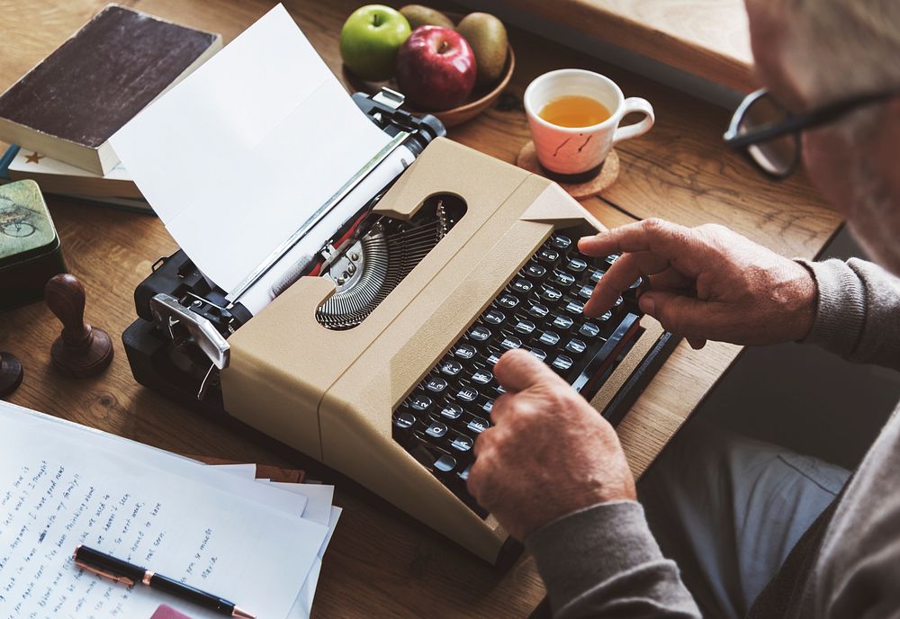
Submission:
<svg viewBox="0 0 900 619">
<path fill-rule="evenodd" d="M 76 31 L 105 0 L 0 0 L 0 88 L 14 82 Z M 220 31 L 225 40 L 271 6 L 263 0 L 126 0 L 148 13 Z M 340 25 L 349 0 L 287 4 L 313 45 L 335 70 Z M 452 139 L 515 161 L 528 139 L 521 95 L 535 76 L 558 67 L 586 67 L 612 76 L 629 95 L 653 102 L 657 126 L 619 148 L 622 173 L 603 198 L 585 202 L 609 226 L 662 216 L 684 224 L 719 222 L 787 256 L 815 256 L 840 225 L 803 175 L 772 184 L 725 150 L 727 114 L 686 94 L 582 57 L 553 42 L 511 31 L 518 69 L 501 106 L 450 131 Z M 177 148 L 177 145 L 173 145 Z M 315 615 L 517 617 L 544 595 L 533 561 L 500 572 L 316 462 L 271 441 L 251 440 L 143 389 L 131 377 L 119 336 L 135 318 L 132 292 L 159 256 L 175 250 L 162 224 L 148 216 L 51 198 L 70 271 L 87 289 L 86 318 L 112 335 L 116 358 L 103 375 L 60 378 L 49 368 L 58 324 L 42 303 L 0 316 L 0 350 L 24 363 L 11 400 L 58 417 L 178 452 L 300 468 L 338 483 L 345 507 L 325 561 Z M 225 248 L 223 248 L 225 249 Z M 636 474 L 727 369 L 739 348 L 680 345 L 619 427 Z"/>
</svg>

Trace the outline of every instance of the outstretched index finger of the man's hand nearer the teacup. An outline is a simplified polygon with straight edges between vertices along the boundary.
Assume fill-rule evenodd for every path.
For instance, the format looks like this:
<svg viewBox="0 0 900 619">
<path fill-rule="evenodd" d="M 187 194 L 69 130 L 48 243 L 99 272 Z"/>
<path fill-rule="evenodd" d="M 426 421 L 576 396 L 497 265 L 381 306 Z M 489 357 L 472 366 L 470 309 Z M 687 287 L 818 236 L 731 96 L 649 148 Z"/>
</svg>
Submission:
<svg viewBox="0 0 900 619">
<path fill-rule="evenodd" d="M 588 256 L 650 251 L 679 265 L 689 274 L 698 274 L 703 254 L 707 253 L 707 247 L 695 230 L 657 219 L 638 221 L 581 238 L 578 248 Z"/>
</svg>

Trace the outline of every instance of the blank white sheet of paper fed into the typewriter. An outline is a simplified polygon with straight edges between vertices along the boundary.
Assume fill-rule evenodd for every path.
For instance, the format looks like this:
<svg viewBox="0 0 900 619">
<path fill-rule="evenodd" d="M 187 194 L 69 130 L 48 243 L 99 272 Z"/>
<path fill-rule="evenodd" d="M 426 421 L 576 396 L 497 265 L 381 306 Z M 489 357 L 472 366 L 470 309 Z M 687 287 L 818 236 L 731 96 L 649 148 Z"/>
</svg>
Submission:
<svg viewBox="0 0 900 619">
<path fill-rule="evenodd" d="M 389 138 L 279 4 L 110 141 L 194 264 L 231 292 Z"/>
</svg>

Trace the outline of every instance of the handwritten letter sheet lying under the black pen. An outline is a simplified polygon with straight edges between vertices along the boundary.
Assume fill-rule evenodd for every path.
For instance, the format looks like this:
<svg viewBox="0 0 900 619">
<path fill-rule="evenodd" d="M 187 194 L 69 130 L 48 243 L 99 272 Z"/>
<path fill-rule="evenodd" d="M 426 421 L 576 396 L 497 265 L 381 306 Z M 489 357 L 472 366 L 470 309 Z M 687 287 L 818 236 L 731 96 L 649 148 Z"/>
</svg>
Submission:
<svg viewBox="0 0 900 619">
<path fill-rule="evenodd" d="M 298 596 L 296 575 L 312 569 L 326 527 L 144 462 L 157 450 L 129 450 L 123 442 L 111 451 L 92 440 L 100 433 L 64 432 L 71 425 L 22 411 L 0 402 L 0 616 L 152 614 L 155 592 L 76 570 L 70 557 L 77 543 L 229 591 L 259 615 L 287 615 Z M 212 472 L 223 484 L 293 494 Z"/>
</svg>

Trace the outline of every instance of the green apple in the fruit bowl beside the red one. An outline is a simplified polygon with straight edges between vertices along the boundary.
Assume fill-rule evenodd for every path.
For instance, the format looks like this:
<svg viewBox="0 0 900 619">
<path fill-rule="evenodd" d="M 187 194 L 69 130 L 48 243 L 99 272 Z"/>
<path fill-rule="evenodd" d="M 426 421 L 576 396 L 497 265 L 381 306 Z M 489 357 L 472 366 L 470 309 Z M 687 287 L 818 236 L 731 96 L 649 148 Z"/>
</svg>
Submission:
<svg viewBox="0 0 900 619">
<path fill-rule="evenodd" d="M 410 22 L 383 4 L 367 4 L 347 17 L 340 31 L 340 56 L 356 76 L 370 82 L 391 79 L 397 52 L 410 36 Z"/>
</svg>

